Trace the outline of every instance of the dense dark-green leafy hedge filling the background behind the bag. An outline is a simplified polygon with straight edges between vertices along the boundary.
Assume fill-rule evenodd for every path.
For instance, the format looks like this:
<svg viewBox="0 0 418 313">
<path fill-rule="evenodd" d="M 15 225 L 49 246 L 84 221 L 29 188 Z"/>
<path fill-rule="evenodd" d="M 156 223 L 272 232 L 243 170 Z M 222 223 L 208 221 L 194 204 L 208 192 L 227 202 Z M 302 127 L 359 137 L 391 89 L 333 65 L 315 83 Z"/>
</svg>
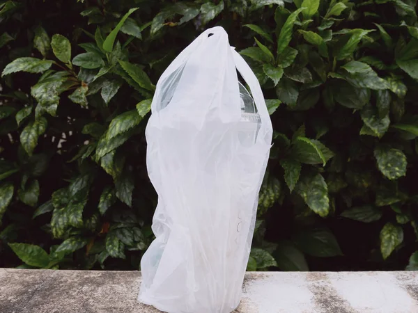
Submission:
<svg viewBox="0 0 418 313">
<path fill-rule="evenodd" d="M 220 25 L 274 127 L 248 269 L 418 268 L 416 0 L 8 0 L 0 24 L 0 266 L 139 268 L 155 83 Z"/>
</svg>

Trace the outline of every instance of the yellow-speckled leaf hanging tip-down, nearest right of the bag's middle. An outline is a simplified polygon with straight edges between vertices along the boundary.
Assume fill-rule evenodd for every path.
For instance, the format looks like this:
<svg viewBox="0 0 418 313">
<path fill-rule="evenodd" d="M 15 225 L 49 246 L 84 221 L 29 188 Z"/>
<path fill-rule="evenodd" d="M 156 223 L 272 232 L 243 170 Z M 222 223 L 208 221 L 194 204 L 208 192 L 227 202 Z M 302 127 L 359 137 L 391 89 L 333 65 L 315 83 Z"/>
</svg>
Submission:
<svg viewBox="0 0 418 313">
<path fill-rule="evenodd" d="M 299 179 L 295 191 L 300 194 L 308 207 L 321 217 L 330 211 L 328 187 L 324 177 L 320 174 L 306 175 Z"/>
</svg>

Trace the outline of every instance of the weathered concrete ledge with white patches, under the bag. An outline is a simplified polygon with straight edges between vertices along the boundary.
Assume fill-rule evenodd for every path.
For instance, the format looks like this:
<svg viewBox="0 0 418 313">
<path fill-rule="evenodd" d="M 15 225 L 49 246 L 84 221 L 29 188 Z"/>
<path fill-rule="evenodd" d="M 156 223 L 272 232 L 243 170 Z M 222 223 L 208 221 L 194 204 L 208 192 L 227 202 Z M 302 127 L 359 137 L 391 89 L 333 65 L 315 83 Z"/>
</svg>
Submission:
<svg viewBox="0 0 418 313">
<path fill-rule="evenodd" d="M 0 268 L 0 312 L 160 312 L 137 302 L 140 283 L 137 271 Z M 417 272 L 247 273 L 243 288 L 235 313 L 418 312 Z"/>
</svg>

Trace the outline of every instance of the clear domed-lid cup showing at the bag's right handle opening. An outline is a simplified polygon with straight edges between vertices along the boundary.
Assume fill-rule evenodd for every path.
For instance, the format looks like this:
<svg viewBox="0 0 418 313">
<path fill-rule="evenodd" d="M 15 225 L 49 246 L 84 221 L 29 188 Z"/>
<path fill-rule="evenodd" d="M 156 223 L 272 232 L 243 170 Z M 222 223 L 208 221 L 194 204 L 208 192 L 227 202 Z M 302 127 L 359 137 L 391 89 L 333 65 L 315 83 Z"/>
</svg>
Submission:
<svg viewBox="0 0 418 313">
<path fill-rule="evenodd" d="M 238 82 L 240 86 L 240 99 L 241 99 L 241 120 L 240 129 L 238 131 L 238 137 L 242 145 L 251 146 L 256 143 L 258 131 L 261 126 L 261 118 L 257 113 L 254 99 L 249 94 L 248 90 Z"/>
</svg>

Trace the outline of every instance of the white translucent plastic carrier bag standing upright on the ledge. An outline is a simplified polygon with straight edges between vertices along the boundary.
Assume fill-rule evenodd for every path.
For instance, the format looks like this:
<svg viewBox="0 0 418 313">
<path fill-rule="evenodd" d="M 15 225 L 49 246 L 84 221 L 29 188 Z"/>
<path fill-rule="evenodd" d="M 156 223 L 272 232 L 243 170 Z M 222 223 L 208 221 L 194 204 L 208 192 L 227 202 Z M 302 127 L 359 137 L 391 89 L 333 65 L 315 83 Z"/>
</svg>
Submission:
<svg viewBox="0 0 418 313">
<path fill-rule="evenodd" d="M 237 70 L 254 97 L 258 131 L 242 122 Z M 156 239 L 141 260 L 138 299 L 170 313 L 231 312 L 240 303 L 272 141 L 260 85 L 215 27 L 169 65 L 151 109 Z"/>
</svg>

